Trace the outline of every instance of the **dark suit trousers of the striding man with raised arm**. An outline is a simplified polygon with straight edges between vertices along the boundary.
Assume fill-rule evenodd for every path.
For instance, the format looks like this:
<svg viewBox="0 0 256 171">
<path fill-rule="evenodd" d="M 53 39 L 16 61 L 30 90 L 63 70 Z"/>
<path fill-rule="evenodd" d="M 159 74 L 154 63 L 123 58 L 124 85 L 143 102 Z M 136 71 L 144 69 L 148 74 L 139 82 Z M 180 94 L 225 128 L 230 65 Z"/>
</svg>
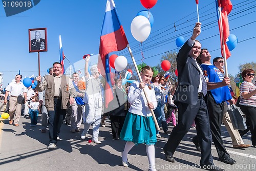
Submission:
<svg viewBox="0 0 256 171">
<path fill-rule="evenodd" d="M 193 121 L 196 122 L 199 144 L 201 147 L 200 165 L 214 165 L 211 156 L 211 133 L 209 126 L 209 115 L 205 99 L 198 97 L 197 104 L 186 104 L 178 102 L 178 124 L 174 127 L 167 143 L 164 145 L 164 152 L 173 155 L 182 138 L 189 131 Z"/>
</svg>

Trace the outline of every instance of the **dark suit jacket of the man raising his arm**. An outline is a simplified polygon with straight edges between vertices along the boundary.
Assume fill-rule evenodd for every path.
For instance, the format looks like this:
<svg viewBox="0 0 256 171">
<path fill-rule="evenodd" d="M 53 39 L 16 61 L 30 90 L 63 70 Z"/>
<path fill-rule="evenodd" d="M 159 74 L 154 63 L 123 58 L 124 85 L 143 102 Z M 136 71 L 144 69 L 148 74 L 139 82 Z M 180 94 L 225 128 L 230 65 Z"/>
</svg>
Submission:
<svg viewBox="0 0 256 171">
<path fill-rule="evenodd" d="M 185 42 L 177 55 L 176 61 L 179 75 L 178 86 L 173 99 L 176 102 L 195 105 L 198 100 L 200 70 L 195 60 L 188 55 L 191 49 L 192 47 L 189 47 Z"/>
</svg>

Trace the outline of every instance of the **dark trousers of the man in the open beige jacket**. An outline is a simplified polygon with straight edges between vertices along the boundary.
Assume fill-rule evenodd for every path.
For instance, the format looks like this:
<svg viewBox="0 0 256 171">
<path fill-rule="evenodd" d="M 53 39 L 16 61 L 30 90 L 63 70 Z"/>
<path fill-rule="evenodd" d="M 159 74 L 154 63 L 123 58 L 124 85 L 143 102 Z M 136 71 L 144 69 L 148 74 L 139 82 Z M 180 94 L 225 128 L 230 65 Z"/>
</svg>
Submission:
<svg viewBox="0 0 256 171">
<path fill-rule="evenodd" d="M 57 136 L 59 136 L 60 127 L 66 111 L 61 109 L 61 99 L 54 98 L 54 111 L 47 111 L 49 116 L 49 143 L 57 143 Z"/>
</svg>

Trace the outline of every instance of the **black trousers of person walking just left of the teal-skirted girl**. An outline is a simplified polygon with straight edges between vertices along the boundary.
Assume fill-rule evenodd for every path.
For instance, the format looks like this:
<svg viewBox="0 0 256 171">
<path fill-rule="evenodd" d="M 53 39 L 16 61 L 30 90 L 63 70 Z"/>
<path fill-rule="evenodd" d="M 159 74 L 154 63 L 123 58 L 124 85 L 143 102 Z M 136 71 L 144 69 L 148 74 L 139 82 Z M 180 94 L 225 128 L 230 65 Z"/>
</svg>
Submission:
<svg viewBox="0 0 256 171">
<path fill-rule="evenodd" d="M 119 139 L 120 133 L 123 127 L 125 116 L 113 116 L 110 115 L 111 130 L 113 139 Z"/>
</svg>

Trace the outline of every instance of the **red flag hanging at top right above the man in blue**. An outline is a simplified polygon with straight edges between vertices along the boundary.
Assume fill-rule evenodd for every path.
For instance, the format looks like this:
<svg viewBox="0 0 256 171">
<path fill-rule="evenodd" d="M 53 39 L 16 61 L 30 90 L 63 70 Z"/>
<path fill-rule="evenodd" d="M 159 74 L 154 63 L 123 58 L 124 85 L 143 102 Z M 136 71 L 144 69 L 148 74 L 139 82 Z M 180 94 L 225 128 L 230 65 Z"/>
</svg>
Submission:
<svg viewBox="0 0 256 171">
<path fill-rule="evenodd" d="M 221 8 L 221 18 L 222 23 L 220 20 L 220 15 L 218 12 L 218 8 Z M 227 47 L 226 40 L 229 36 L 229 25 L 228 25 L 228 18 L 227 15 L 232 10 L 232 4 L 230 0 L 216 0 L 216 8 L 217 8 L 217 17 L 218 17 L 218 24 L 219 24 L 219 30 L 220 30 L 220 37 L 221 37 L 221 55 L 223 56 L 223 43 L 222 43 L 222 31 L 223 31 L 223 40 L 226 50 L 226 58 L 229 58 L 231 56 L 231 53 Z M 222 28 L 221 28 L 222 26 Z"/>
</svg>

